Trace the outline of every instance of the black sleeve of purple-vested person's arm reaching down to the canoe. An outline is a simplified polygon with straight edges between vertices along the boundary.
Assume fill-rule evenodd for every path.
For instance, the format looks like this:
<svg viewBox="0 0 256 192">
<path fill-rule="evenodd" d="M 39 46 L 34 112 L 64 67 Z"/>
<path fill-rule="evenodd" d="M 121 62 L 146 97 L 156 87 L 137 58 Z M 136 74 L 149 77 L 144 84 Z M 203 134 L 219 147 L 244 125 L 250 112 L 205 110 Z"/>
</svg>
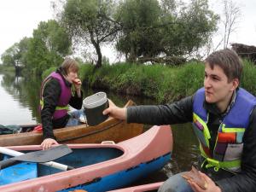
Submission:
<svg viewBox="0 0 256 192">
<path fill-rule="evenodd" d="M 61 96 L 61 85 L 57 79 L 50 79 L 44 86 L 44 108 L 41 110 L 43 137 L 55 138 L 53 134 L 53 113 Z"/>
</svg>

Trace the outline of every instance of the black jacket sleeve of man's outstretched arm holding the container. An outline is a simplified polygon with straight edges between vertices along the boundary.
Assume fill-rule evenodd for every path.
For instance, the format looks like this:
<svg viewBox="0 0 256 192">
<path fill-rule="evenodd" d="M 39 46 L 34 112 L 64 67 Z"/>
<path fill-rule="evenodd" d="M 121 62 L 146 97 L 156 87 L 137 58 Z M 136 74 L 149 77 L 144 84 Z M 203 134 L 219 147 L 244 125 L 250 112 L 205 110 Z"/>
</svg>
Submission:
<svg viewBox="0 0 256 192">
<path fill-rule="evenodd" d="M 128 123 L 171 125 L 192 122 L 193 96 L 166 105 L 135 106 L 127 108 Z"/>
</svg>

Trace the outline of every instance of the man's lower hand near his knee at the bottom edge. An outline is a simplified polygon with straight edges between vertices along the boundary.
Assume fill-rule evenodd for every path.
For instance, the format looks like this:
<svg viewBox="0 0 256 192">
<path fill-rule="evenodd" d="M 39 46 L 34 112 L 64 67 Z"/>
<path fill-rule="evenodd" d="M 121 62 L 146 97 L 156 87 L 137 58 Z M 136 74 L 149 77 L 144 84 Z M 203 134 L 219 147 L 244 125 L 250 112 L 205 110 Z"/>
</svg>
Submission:
<svg viewBox="0 0 256 192">
<path fill-rule="evenodd" d="M 221 189 L 212 181 L 206 174 L 199 172 L 201 177 L 207 182 L 207 189 L 201 189 L 201 187 L 191 180 L 187 180 L 191 188 L 195 192 L 221 192 Z"/>
</svg>

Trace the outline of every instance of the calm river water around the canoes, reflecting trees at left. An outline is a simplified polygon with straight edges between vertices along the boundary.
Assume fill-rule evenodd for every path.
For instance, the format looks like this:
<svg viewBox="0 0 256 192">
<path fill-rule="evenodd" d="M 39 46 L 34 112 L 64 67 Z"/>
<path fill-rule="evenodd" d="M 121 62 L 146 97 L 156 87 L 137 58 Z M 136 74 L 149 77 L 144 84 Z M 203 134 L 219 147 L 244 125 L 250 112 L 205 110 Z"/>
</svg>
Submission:
<svg viewBox="0 0 256 192">
<path fill-rule="evenodd" d="M 0 125 L 26 125 L 40 123 L 38 113 L 41 79 L 24 79 L 15 74 L 0 73 Z M 99 90 L 84 88 L 84 97 Z M 109 93 L 108 98 L 118 106 L 132 99 L 137 105 L 157 104 L 156 102 L 133 96 L 120 96 Z M 190 124 L 172 125 L 174 147 L 172 160 L 159 172 L 149 175 L 135 184 L 160 182 L 177 172 L 189 171 L 199 154 L 198 143 Z"/>
</svg>

